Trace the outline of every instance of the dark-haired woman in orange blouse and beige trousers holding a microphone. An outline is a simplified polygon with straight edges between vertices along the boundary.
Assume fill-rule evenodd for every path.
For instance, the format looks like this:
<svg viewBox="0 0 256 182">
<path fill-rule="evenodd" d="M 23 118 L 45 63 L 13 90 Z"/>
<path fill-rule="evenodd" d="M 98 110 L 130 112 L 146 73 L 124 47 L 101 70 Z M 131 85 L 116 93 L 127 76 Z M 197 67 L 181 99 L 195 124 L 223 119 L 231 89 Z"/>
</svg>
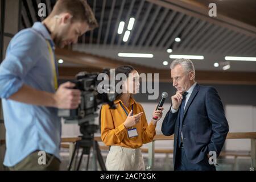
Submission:
<svg viewBox="0 0 256 182">
<path fill-rule="evenodd" d="M 109 105 L 101 108 L 101 138 L 107 146 L 111 146 L 106 168 L 144 170 L 140 147 L 154 138 L 156 123 L 162 117 L 163 107 L 154 111 L 152 118 L 158 119 L 152 119 L 148 125 L 142 105 L 131 96 L 139 90 L 138 72 L 126 65 L 115 69 L 115 75 L 118 73 L 124 73 L 127 80 L 123 82 L 122 93 L 115 97 L 117 109 L 109 109 Z"/>
</svg>

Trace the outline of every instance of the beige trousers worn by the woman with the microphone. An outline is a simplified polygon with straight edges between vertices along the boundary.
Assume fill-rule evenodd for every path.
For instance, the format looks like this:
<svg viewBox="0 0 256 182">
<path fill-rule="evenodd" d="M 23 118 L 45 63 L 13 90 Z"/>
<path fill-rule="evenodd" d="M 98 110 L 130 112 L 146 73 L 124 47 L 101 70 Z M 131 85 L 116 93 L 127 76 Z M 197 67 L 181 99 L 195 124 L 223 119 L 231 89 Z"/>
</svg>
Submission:
<svg viewBox="0 0 256 182">
<path fill-rule="evenodd" d="M 111 146 L 106 158 L 108 171 L 144 171 L 141 148 Z"/>
</svg>

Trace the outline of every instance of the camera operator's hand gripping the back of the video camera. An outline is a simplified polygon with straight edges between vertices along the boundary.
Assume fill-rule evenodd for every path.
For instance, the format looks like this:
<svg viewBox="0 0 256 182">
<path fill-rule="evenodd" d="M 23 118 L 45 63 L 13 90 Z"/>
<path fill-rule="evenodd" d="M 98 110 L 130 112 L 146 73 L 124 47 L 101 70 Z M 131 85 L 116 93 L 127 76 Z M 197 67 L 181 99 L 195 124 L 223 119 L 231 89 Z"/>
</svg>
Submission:
<svg viewBox="0 0 256 182">
<path fill-rule="evenodd" d="M 72 89 L 75 84 L 65 82 L 61 84 L 55 93 L 55 106 L 58 109 L 77 109 L 81 103 L 80 90 Z"/>
</svg>

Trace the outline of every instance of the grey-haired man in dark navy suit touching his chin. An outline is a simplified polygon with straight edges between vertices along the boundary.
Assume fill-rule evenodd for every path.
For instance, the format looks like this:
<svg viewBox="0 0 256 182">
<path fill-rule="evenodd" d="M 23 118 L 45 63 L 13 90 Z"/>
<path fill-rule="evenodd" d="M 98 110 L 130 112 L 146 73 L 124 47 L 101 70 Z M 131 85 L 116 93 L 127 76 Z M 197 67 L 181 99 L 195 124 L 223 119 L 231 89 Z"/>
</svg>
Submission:
<svg viewBox="0 0 256 182">
<path fill-rule="evenodd" d="M 177 92 L 162 132 L 174 134 L 174 169 L 214 171 L 209 156 L 220 154 L 229 131 L 221 98 L 216 89 L 195 82 L 191 60 L 174 60 L 170 68 Z"/>
</svg>

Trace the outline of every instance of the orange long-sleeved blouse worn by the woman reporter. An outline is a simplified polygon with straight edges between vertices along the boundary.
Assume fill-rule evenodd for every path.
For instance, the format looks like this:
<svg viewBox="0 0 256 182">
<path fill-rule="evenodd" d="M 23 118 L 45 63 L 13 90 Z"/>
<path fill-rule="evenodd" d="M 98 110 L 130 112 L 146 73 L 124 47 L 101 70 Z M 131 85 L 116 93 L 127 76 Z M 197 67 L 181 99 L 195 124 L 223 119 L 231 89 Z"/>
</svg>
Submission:
<svg viewBox="0 0 256 182">
<path fill-rule="evenodd" d="M 127 129 L 123 125 L 127 118 L 127 114 L 123 110 L 126 109 L 130 113 L 133 105 L 133 114 L 143 112 L 140 121 L 133 126 L 137 129 L 138 136 L 129 138 Z M 109 105 L 102 105 L 101 108 L 101 139 L 107 146 L 122 146 L 127 148 L 139 148 L 143 143 L 151 142 L 155 136 L 155 125 L 151 122 L 147 124 L 146 115 L 141 104 L 130 97 L 130 106 L 127 108 L 121 100 L 114 102 L 117 109 L 109 109 Z"/>
</svg>

